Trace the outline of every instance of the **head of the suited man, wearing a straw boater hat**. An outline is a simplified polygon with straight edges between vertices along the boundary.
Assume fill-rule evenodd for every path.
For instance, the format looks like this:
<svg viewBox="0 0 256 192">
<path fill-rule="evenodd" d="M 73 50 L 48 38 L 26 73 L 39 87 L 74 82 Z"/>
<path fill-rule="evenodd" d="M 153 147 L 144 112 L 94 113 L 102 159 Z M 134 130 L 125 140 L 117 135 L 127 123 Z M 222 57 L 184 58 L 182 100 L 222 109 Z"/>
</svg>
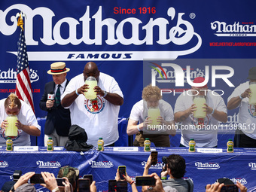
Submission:
<svg viewBox="0 0 256 192">
<path fill-rule="evenodd" d="M 53 62 L 47 73 L 53 75 L 53 81 L 55 84 L 62 84 L 66 80 L 67 72 L 69 71 L 70 69 L 66 68 L 65 62 Z"/>
</svg>

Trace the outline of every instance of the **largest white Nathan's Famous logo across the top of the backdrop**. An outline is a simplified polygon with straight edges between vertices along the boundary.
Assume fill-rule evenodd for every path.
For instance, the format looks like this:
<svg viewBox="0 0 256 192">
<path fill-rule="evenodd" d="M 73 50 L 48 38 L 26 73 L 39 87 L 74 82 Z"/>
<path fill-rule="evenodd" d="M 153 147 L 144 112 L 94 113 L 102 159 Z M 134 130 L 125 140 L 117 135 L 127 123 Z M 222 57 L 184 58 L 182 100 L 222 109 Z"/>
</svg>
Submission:
<svg viewBox="0 0 256 192">
<path fill-rule="evenodd" d="M 83 9 L 83 8 L 82 8 Z M 187 55 L 196 52 L 202 45 L 202 38 L 198 35 L 194 26 L 182 17 L 185 13 L 177 13 L 175 8 L 166 7 L 166 16 L 153 17 L 148 16 L 148 20 L 142 21 L 136 17 L 125 17 L 123 20 L 116 20 L 113 18 L 104 18 L 102 15 L 102 6 L 95 14 L 91 13 L 90 6 L 87 5 L 84 15 L 80 18 L 65 17 L 56 20 L 54 13 L 50 8 L 38 7 L 34 10 L 24 4 L 11 5 L 5 11 L 0 10 L 0 23 L 2 28 L 0 31 L 3 35 L 13 35 L 17 30 L 17 20 L 7 18 L 13 10 L 20 10 L 26 14 L 26 44 L 38 46 L 38 44 L 45 44 L 52 46 L 54 44 L 87 44 L 87 45 L 102 45 L 108 44 L 114 46 L 116 44 L 127 45 L 177 45 L 177 50 L 172 51 L 67 51 L 54 52 L 53 55 L 49 52 L 28 52 L 30 58 L 33 60 L 87 60 L 87 59 L 133 59 L 142 60 L 144 58 L 177 58 L 181 55 Z M 95 8 L 94 8 L 95 9 Z M 190 13 L 189 13 L 190 14 Z M 162 16 L 163 14 L 161 14 Z M 41 35 L 42 38 L 35 38 L 35 20 L 34 17 L 41 17 Z M 120 19 L 120 17 L 118 17 Z M 191 18 L 192 19 L 192 18 Z M 12 25 L 10 26 L 12 20 Z M 56 23 L 53 23 L 53 21 Z M 39 24 L 38 24 L 39 25 Z M 127 35 L 126 26 L 130 26 L 130 35 Z M 92 29 L 93 28 L 93 29 Z M 157 28 L 157 33 L 155 28 Z M 103 29 L 107 30 L 103 35 Z M 63 38 L 62 32 L 68 30 L 68 37 Z M 81 37 L 78 38 L 78 34 Z M 128 37 L 127 37 L 128 36 Z M 39 41 L 41 41 L 39 43 Z M 181 46 L 190 44 L 184 50 Z M 11 51 L 9 53 L 17 54 Z M 40 54 L 40 57 L 38 55 Z M 57 56 L 57 57 L 56 57 Z"/>
</svg>

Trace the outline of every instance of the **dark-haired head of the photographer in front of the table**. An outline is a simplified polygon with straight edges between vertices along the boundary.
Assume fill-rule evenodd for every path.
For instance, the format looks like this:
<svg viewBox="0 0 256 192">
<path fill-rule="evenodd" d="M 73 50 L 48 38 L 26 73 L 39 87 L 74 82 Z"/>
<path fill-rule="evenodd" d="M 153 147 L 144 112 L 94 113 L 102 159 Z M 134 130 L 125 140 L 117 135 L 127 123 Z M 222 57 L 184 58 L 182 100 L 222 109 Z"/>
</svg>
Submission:
<svg viewBox="0 0 256 192">
<path fill-rule="evenodd" d="M 174 178 L 182 178 L 186 172 L 185 160 L 179 154 L 171 154 L 167 157 L 167 167 Z"/>
</svg>

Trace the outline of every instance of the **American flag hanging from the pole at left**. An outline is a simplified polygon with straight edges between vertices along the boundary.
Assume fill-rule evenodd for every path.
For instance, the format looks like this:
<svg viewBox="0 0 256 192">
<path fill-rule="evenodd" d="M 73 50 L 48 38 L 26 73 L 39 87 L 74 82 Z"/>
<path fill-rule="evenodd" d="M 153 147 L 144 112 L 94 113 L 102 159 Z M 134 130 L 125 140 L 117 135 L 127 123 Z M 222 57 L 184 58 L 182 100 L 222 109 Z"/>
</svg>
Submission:
<svg viewBox="0 0 256 192">
<path fill-rule="evenodd" d="M 29 61 L 26 53 L 26 41 L 23 29 L 20 29 L 20 40 L 18 42 L 17 55 L 17 81 L 16 81 L 16 95 L 19 99 L 30 105 L 35 113 L 31 82 L 29 77 Z"/>
</svg>

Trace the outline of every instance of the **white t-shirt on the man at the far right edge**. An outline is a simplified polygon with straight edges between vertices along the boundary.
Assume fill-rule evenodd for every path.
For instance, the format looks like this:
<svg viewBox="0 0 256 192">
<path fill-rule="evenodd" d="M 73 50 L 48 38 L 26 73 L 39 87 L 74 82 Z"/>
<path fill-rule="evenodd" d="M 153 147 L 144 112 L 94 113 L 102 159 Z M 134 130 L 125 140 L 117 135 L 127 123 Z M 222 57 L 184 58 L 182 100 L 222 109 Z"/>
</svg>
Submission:
<svg viewBox="0 0 256 192">
<path fill-rule="evenodd" d="M 227 102 L 233 97 L 240 96 L 249 88 L 249 81 L 240 84 L 239 87 L 233 91 L 228 97 Z M 245 126 L 241 126 L 241 130 L 246 136 L 256 139 L 256 116 L 253 115 L 255 112 L 255 106 L 248 103 L 248 97 L 242 99 L 242 102 L 237 106 L 239 107 L 238 119 L 239 123 Z"/>
</svg>

